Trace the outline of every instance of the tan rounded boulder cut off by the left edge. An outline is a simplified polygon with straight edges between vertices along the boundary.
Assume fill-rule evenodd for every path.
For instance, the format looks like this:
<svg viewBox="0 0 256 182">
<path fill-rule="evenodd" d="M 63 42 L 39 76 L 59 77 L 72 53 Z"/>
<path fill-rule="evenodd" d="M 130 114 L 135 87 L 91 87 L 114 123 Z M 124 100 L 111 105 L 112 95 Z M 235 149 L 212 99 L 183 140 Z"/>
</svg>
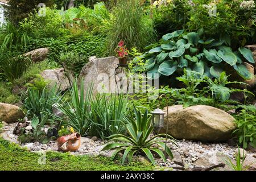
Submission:
<svg viewBox="0 0 256 182">
<path fill-rule="evenodd" d="M 0 121 L 13 123 L 16 122 L 17 119 L 24 118 L 24 116 L 22 109 L 18 106 L 0 103 Z"/>
</svg>

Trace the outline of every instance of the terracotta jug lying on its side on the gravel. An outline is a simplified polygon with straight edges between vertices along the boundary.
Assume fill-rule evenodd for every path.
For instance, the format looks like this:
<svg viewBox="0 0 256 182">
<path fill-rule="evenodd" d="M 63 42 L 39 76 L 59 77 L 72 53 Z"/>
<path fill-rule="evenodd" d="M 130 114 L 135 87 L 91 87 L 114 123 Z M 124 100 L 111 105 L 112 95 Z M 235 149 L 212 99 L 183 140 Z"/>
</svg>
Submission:
<svg viewBox="0 0 256 182">
<path fill-rule="evenodd" d="M 57 139 L 57 146 L 59 151 L 75 152 L 79 150 L 81 145 L 81 135 L 79 133 L 72 133 Z"/>
</svg>

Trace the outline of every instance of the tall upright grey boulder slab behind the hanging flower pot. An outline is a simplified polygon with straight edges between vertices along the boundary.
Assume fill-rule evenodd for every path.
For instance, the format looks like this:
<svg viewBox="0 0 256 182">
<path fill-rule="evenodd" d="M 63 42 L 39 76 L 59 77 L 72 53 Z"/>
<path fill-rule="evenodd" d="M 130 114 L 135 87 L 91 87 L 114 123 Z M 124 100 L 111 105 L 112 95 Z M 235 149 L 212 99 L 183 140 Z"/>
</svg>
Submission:
<svg viewBox="0 0 256 182">
<path fill-rule="evenodd" d="M 79 76 L 79 80 L 84 80 L 84 90 L 93 83 L 93 95 L 97 93 L 114 93 L 115 78 L 114 71 L 118 67 L 116 57 L 104 57 L 92 59 L 87 63 Z"/>
</svg>

